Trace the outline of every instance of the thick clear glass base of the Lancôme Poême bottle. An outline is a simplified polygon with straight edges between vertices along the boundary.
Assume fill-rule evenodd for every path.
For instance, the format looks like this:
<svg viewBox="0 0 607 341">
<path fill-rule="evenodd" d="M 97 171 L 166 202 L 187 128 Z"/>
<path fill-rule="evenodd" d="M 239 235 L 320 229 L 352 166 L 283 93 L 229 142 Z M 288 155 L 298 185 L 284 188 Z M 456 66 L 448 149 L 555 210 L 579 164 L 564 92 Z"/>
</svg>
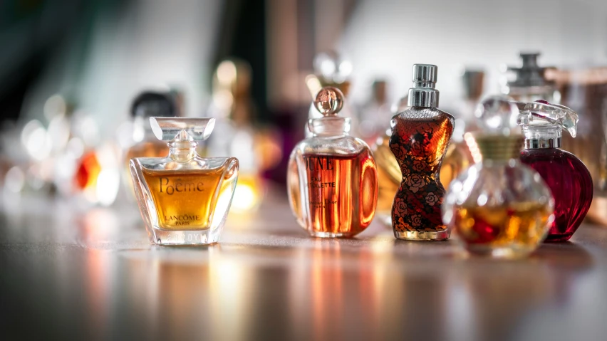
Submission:
<svg viewBox="0 0 607 341">
<path fill-rule="evenodd" d="M 219 242 L 222 229 L 170 231 L 152 229 L 150 241 L 157 245 L 210 245 Z"/>
</svg>

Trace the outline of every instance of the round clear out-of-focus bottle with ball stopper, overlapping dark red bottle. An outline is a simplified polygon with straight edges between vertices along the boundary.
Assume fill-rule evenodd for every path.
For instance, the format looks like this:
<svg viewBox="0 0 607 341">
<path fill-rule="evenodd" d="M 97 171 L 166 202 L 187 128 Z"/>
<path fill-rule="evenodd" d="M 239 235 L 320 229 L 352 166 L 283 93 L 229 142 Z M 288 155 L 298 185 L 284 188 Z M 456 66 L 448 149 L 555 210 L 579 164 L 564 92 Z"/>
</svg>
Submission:
<svg viewBox="0 0 607 341">
<path fill-rule="evenodd" d="M 544 180 L 522 164 L 517 105 L 491 97 L 479 110 L 482 131 L 474 145 L 482 161 L 455 179 L 445 196 L 443 221 L 469 252 L 519 258 L 534 251 L 554 220 L 554 199 Z"/>
</svg>

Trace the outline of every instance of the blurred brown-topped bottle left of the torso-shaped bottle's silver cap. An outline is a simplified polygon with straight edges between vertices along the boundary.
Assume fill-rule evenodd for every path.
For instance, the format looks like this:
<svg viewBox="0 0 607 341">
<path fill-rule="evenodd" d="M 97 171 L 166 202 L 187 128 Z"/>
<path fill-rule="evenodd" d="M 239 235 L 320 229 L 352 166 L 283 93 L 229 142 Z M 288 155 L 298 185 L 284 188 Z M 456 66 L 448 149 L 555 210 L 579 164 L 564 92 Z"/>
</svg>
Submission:
<svg viewBox="0 0 607 341">
<path fill-rule="evenodd" d="M 360 138 L 369 145 L 385 135 L 387 122 L 390 122 L 394 115 L 390 109 L 387 87 L 385 80 L 375 80 L 371 86 L 370 99 L 358 110 Z"/>
</svg>

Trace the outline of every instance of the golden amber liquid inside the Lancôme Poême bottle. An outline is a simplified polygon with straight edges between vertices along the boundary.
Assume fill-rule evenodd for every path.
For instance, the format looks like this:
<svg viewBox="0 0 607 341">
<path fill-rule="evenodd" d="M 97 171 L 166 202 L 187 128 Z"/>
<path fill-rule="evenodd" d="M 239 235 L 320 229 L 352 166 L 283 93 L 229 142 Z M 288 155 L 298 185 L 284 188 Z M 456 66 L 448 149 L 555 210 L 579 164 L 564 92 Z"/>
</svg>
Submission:
<svg viewBox="0 0 607 341">
<path fill-rule="evenodd" d="M 222 189 L 224 169 L 142 169 L 162 229 L 208 229 Z"/>
</svg>

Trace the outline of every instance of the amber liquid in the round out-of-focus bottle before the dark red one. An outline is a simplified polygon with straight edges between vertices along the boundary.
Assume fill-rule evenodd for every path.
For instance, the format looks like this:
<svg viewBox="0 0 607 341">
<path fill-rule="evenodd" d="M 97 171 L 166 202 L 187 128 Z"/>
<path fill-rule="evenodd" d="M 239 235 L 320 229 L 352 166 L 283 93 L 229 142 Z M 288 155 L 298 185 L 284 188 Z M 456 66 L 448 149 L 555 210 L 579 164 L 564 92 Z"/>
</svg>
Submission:
<svg viewBox="0 0 607 341">
<path fill-rule="evenodd" d="M 499 252 L 526 256 L 546 233 L 549 204 L 519 203 L 509 207 L 461 207 L 455 210 L 455 231 L 471 253 Z"/>
</svg>

